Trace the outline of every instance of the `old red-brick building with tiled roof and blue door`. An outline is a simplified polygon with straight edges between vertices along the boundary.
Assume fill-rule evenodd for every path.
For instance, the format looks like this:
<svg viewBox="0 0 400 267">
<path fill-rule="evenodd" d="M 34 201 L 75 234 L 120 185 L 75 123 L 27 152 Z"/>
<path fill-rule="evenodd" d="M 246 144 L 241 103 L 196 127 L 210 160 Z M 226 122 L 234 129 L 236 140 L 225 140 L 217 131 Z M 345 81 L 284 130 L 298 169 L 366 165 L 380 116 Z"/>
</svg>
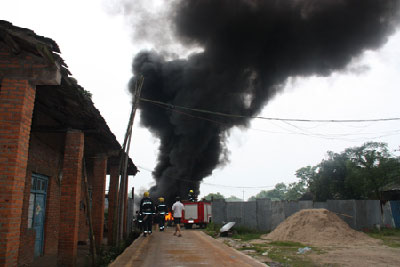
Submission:
<svg viewBox="0 0 400 267">
<path fill-rule="evenodd" d="M 97 246 L 107 174 L 115 207 L 121 146 L 59 53 L 53 40 L 0 21 L 0 266 L 51 254 L 75 265 L 88 239 L 83 165 Z"/>
</svg>

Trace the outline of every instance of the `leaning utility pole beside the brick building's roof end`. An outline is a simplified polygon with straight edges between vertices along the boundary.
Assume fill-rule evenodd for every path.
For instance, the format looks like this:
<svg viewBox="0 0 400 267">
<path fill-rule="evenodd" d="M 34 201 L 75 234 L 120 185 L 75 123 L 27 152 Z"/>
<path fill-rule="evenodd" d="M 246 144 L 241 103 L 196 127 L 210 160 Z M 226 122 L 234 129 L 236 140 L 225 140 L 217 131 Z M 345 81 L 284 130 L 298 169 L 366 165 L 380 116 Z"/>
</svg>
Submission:
<svg viewBox="0 0 400 267">
<path fill-rule="evenodd" d="M 129 149 L 130 149 L 131 140 L 132 140 L 133 121 L 135 119 L 136 110 L 139 107 L 140 93 L 142 91 L 143 81 L 144 81 L 144 77 L 140 76 L 135 84 L 135 90 L 133 92 L 131 115 L 129 118 L 128 127 L 127 127 L 125 138 L 124 138 L 123 148 L 120 153 L 120 162 L 119 162 L 120 186 L 119 186 L 119 197 L 118 197 L 118 209 L 115 209 L 115 214 L 114 214 L 115 227 L 113 229 L 113 236 L 115 237 L 114 240 L 116 240 L 116 244 L 119 244 L 119 242 L 123 239 L 123 233 L 124 233 L 124 225 L 125 225 L 124 203 L 125 203 L 125 198 L 127 197 L 126 188 L 128 186 L 127 169 L 128 169 L 128 160 L 129 160 Z M 118 192 L 116 191 L 116 196 L 115 196 L 116 199 L 117 199 L 117 195 L 118 195 Z"/>
</svg>

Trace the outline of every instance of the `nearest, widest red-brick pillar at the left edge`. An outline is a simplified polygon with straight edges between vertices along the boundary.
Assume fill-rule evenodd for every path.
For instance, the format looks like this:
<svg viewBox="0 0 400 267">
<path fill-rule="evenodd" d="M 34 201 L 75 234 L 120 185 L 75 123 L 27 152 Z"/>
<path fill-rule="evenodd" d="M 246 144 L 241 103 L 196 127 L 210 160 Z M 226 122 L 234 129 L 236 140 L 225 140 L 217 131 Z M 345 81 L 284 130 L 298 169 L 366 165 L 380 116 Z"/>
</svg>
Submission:
<svg viewBox="0 0 400 267">
<path fill-rule="evenodd" d="M 35 90 L 27 80 L 1 81 L 0 266 L 17 265 L 34 99 Z"/>
</svg>

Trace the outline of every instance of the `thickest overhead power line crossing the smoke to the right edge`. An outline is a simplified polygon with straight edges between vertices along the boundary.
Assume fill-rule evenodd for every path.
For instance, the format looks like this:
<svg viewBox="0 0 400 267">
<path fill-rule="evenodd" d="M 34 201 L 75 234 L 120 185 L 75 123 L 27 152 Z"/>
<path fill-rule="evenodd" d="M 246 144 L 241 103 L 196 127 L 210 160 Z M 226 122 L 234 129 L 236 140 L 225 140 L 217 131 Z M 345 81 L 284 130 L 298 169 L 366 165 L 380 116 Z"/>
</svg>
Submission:
<svg viewBox="0 0 400 267">
<path fill-rule="evenodd" d="M 188 108 L 188 107 L 184 107 L 184 106 L 178 106 L 178 105 L 165 103 L 162 101 L 151 100 L 151 99 L 147 99 L 147 98 L 143 98 L 143 97 L 141 97 L 140 100 L 142 100 L 144 102 L 149 102 L 149 103 L 153 103 L 153 104 L 159 104 L 162 106 L 166 106 L 170 109 L 184 109 L 184 110 L 190 110 L 190 111 L 195 111 L 195 112 L 200 112 L 200 113 L 207 113 L 207 114 L 213 114 L 213 115 L 218 115 L 218 116 L 223 116 L 223 117 L 231 117 L 231 118 L 249 118 L 249 119 L 262 119 L 262 120 L 272 120 L 272 121 L 292 121 L 292 122 L 332 122 L 332 123 L 380 122 L 380 121 L 399 121 L 400 120 L 400 118 L 398 118 L 398 117 L 381 118 L 381 119 L 315 120 L 315 119 L 284 119 L 284 118 L 262 117 L 262 116 L 244 116 L 244 115 L 210 111 L 210 110 L 205 110 L 205 109 Z"/>
</svg>

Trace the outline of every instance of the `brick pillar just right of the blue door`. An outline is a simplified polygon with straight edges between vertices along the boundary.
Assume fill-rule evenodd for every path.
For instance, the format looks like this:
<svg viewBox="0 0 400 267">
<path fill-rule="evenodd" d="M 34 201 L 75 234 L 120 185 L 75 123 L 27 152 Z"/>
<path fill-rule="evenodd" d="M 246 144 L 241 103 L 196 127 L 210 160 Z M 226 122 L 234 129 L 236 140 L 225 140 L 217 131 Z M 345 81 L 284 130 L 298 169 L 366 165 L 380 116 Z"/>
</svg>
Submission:
<svg viewBox="0 0 400 267">
<path fill-rule="evenodd" d="M 58 242 L 58 265 L 62 266 L 76 264 L 83 148 L 84 135 L 82 132 L 70 131 L 66 134 Z"/>
</svg>

